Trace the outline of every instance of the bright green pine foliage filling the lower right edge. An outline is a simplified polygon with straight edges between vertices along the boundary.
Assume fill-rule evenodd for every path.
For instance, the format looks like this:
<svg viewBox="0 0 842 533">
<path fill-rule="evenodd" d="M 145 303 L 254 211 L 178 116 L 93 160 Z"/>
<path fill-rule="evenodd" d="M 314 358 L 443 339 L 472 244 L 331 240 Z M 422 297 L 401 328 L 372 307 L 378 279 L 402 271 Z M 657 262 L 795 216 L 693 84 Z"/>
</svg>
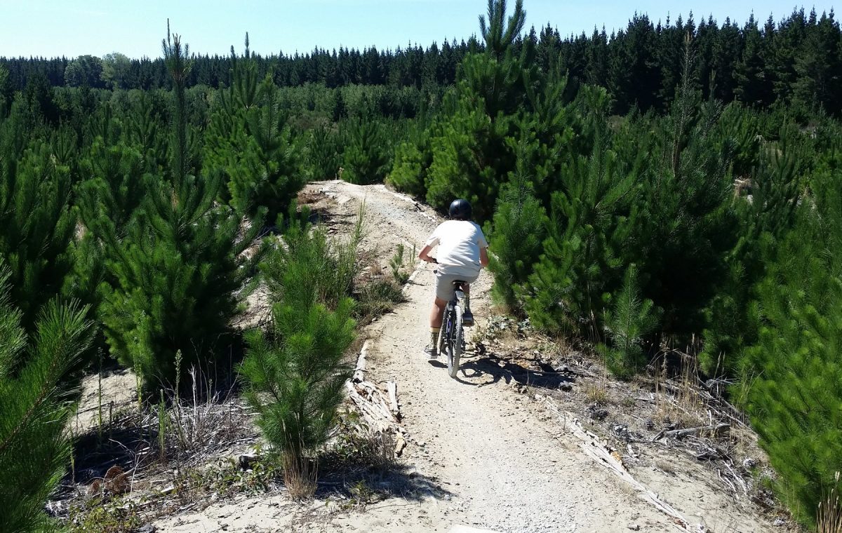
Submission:
<svg viewBox="0 0 842 533">
<path fill-rule="evenodd" d="M 839 168 L 813 176 L 813 205 L 756 287 L 759 333 L 745 350 L 738 389 L 779 475 L 777 493 L 807 525 L 842 470 Z"/>
</svg>

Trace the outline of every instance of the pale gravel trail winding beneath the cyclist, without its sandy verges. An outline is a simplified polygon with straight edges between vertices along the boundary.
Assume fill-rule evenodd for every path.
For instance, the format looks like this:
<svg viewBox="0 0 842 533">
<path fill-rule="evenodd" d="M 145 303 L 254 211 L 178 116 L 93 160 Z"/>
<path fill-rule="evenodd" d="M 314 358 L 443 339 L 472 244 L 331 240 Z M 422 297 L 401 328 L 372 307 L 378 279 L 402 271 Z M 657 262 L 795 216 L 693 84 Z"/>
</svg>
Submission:
<svg viewBox="0 0 842 533">
<path fill-rule="evenodd" d="M 331 189 L 340 198 L 365 196 L 368 223 L 387 217 L 386 227 L 394 231 L 390 237 L 406 239 L 418 249 L 438 222 L 427 211 L 403 209 L 392 217 L 403 206 L 383 188 L 334 184 Z M 383 231 L 377 226 L 370 227 L 369 238 Z M 537 419 L 525 398 L 505 386 L 509 376 L 504 370 L 490 373 L 489 365 L 477 365 L 477 358 L 469 355 L 454 380 L 442 361 L 424 357 L 433 275 L 431 265 L 419 264 L 404 290 L 407 301 L 368 332 L 374 363 L 370 374 L 376 381 L 398 384 L 411 437 L 407 461 L 433 480 L 433 492 L 438 492 L 427 498 L 425 514 L 393 513 L 392 524 L 383 530 L 411 525 L 447 530 L 464 524 L 498 531 L 609 531 L 634 523 L 650 531 L 674 530 L 663 515 L 623 491 L 616 479 L 561 437 L 557 424 Z M 488 272 L 473 285 L 478 322 L 488 314 L 490 285 Z M 377 509 L 367 514 L 377 514 Z M 360 529 L 378 530 L 364 524 Z"/>
</svg>

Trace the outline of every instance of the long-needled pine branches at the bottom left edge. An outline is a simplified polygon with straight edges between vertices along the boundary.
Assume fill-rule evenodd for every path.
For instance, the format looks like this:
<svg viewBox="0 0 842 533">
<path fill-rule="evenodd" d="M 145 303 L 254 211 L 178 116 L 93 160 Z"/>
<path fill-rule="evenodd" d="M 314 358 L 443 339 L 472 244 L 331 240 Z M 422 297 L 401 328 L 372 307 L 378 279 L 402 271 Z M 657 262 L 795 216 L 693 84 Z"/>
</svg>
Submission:
<svg viewBox="0 0 842 533">
<path fill-rule="evenodd" d="M 0 273 L 0 530 L 51 531 L 44 512 L 70 462 L 65 428 L 77 391 L 61 379 L 90 342 L 88 310 L 51 301 L 28 335 Z M 25 361 L 19 365 L 19 361 Z"/>
</svg>

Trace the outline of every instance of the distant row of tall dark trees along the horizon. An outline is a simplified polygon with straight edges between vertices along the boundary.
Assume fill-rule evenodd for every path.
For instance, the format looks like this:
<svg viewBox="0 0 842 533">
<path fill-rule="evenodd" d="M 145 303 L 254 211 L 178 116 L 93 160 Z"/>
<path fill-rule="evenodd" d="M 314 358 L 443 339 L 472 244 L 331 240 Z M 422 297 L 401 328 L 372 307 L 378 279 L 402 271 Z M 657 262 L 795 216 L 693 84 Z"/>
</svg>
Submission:
<svg viewBox="0 0 842 533">
<path fill-rule="evenodd" d="M 818 15 L 815 10 L 800 9 L 778 23 L 770 15 L 765 24 L 752 16 L 742 27 L 730 19 L 717 24 L 712 17 L 696 23 L 692 13 L 686 20 L 668 17 L 665 24 L 635 14 L 626 29 L 610 35 L 605 29 L 594 29 L 590 36 L 583 32 L 562 38 L 547 25 L 540 31 L 533 27 L 516 45 L 522 48 L 523 40 L 532 40 L 538 67 L 545 72 L 559 68 L 568 72 L 573 83 L 607 88 L 614 99 L 612 111 L 625 114 L 636 108 L 663 111 L 669 106 L 688 36 L 695 79 L 700 80 L 705 98 L 712 91 L 725 103 L 795 104 L 805 111 L 823 109 L 835 116 L 842 111 L 842 38 L 833 10 Z M 250 53 L 247 45 L 246 55 L 256 61 L 260 77 L 271 72 L 280 87 L 323 83 L 328 88 L 362 84 L 423 89 L 454 83 L 461 59 L 483 47 L 472 36 L 427 48 L 316 49 L 291 56 L 282 52 L 260 56 Z M 0 97 L 23 90 L 34 77 L 45 78 L 53 87 L 169 87 L 162 58 L 131 59 L 117 52 L 102 58 L 0 57 L 2 66 L 8 69 L 8 77 L 0 79 Z M 231 67 L 230 56 L 195 56 L 187 85 L 219 87 Z"/>
</svg>

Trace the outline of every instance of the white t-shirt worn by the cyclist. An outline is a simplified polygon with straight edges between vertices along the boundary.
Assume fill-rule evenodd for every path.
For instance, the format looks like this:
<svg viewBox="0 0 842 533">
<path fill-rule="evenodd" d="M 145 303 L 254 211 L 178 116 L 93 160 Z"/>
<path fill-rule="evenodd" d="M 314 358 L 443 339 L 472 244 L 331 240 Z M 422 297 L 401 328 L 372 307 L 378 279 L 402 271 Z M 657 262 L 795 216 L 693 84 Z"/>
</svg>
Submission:
<svg viewBox="0 0 842 533">
<path fill-rule="evenodd" d="M 435 259 L 446 274 L 478 274 L 480 248 L 488 248 L 482 229 L 472 221 L 444 221 L 427 239 L 427 246 L 439 245 Z"/>
</svg>

